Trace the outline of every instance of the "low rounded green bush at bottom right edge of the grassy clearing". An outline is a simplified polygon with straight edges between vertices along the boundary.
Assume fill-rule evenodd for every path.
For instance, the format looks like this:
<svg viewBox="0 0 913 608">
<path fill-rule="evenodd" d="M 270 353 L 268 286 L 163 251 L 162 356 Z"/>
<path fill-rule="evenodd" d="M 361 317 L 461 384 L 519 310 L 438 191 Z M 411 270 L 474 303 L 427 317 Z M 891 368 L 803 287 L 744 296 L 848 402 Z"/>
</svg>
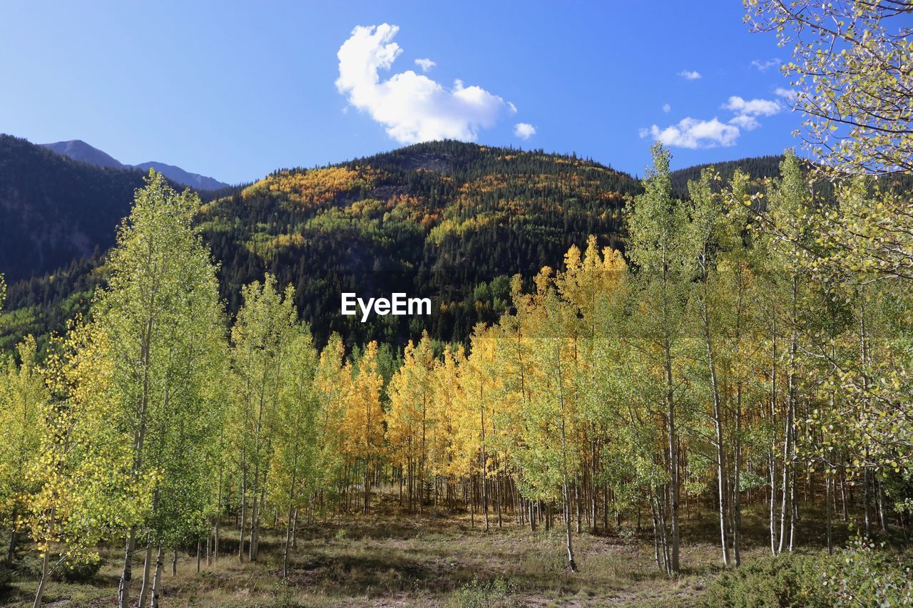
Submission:
<svg viewBox="0 0 913 608">
<path fill-rule="evenodd" d="M 782 553 L 725 571 L 708 588 L 705 605 L 777 608 L 834 605 L 822 579 L 822 555 Z"/>
</svg>

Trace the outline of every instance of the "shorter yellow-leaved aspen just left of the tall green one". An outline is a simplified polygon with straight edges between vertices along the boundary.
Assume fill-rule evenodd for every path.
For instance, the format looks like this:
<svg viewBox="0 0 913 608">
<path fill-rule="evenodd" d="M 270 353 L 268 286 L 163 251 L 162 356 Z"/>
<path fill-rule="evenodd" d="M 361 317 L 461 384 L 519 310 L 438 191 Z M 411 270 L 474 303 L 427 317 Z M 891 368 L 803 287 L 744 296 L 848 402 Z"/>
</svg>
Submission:
<svg viewBox="0 0 913 608">
<path fill-rule="evenodd" d="M 110 424 L 117 399 L 110 340 L 96 325 L 72 322 L 47 360 L 49 397 L 40 404 L 39 453 L 26 478 L 26 525 L 41 554 L 34 606 L 63 562 L 98 561 L 96 546 L 133 529 L 148 513 L 157 472 L 134 470 L 133 436 Z M 51 563 L 51 553 L 59 555 Z"/>
</svg>

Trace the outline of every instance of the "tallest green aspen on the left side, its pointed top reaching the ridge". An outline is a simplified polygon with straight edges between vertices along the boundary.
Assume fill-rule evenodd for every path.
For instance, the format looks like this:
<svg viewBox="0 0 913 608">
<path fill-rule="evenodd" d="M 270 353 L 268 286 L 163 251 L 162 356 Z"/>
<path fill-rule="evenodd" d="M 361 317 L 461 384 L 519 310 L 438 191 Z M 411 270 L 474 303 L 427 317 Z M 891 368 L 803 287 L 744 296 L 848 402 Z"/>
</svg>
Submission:
<svg viewBox="0 0 913 608">
<path fill-rule="evenodd" d="M 150 519 L 143 522 L 148 526 L 126 530 L 121 608 L 130 603 L 138 533 L 147 547 L 163 538 L 158 509 L 174 507 L 176 499 L 163 489 L 176 480 L 172 476 L 183 475 L 182 462 L 193 460 L 189 446 L 183 454 L 173 449 L 182 441 L 182 419 L 219 406 L 202 394 L 207 383 L 217 382 L 207 372 L 214 353 L 224 348 L 225 332 L 215 267 L 192 225 L 199 205 L 196 194 L 177 194 L 150 171 L 118 230 L 109 285 L 92 307 L 92 322 L 105 334 L 113 364 L 110 424 L 132 437 L 134 480 L 147 477 L 153 485 Z M 149 550 L 147 564 L 148 557 Z"/>
</svg>

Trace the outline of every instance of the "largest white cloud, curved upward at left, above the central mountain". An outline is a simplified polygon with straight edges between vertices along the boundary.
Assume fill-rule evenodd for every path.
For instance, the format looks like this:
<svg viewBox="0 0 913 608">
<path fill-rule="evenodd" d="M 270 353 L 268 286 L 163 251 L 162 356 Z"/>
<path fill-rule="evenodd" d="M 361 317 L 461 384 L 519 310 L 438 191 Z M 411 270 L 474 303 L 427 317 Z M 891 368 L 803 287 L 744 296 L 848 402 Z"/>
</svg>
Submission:
<svg viewBox="0 0 913 608">
<path fill-rule="evenodd" d="M 403 143 L 455 139 L 474 141 L 479 129 L 495 125 L 513 104 L 460 80 L 450 89 L 406 70 L 381 79 L 403 49 L 393 42 L 397 26 L 357 26 L 339 49 L 336 89 L 358 110 L 368 112 L 394 140 Z"/>
</svg>

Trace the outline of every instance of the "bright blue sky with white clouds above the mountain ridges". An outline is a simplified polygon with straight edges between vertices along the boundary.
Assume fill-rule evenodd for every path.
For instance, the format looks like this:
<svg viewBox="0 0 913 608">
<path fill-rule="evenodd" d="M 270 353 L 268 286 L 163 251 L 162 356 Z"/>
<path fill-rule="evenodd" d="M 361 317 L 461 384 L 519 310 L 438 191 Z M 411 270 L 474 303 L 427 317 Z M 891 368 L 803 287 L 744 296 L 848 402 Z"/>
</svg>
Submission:
<svg viewBox="0 0 913 608">
<path fill-rule="evenodd" d="M 643 174 L 655 138 L 683 167 L 800 122 L 736 0 L 77 4 L 0 5 L 0 132 L 229 183 L 442 133 Z"/>
</svg>

